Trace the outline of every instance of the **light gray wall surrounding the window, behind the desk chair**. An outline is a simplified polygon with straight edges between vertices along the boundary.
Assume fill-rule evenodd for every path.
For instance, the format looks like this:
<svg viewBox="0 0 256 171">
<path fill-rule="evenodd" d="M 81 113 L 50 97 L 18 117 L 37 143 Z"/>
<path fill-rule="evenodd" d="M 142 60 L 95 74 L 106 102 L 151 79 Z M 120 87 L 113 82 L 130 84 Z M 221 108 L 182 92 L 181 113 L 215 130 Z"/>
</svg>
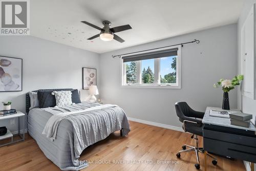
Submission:
<svg viewBox="0 0 256 171">
<path fill-rule="evenodd" d="M 199 39 L 181 51 L 181 89 L 121 87 L 121 63 L 117 55 Z M 212 85 L 237 74 L 237 25 L 227 25 L 185 34 L 100 55 L 100 95 L 104 103 L 115 103 L 127 116 L 172 126 L 181 126 L 174 104 L 187 101 L 198 111 L 222 105 L 222 90 Z M 231 108 L 237 108 L 237 91 L 229 93 Z"/>
</svg>

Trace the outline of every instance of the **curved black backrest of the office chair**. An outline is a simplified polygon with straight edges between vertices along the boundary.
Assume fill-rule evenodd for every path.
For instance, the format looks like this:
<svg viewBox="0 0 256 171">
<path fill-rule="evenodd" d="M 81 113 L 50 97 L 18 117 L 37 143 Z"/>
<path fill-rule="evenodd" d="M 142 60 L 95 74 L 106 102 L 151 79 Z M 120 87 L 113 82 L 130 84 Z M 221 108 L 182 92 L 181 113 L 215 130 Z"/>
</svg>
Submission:
<svg viewBox="0 0 256 171">
<path fill-rule="evenodd" d="M 191 108 L 189 107 L 189 105 L 186 102 L 176 102 L 175 109 L 176 109 L 176 114 L 179 117 L 179 120 L 181 122 L 183 122 L 185 116 L 191 117 L 190 116 Z"/>
</svg>

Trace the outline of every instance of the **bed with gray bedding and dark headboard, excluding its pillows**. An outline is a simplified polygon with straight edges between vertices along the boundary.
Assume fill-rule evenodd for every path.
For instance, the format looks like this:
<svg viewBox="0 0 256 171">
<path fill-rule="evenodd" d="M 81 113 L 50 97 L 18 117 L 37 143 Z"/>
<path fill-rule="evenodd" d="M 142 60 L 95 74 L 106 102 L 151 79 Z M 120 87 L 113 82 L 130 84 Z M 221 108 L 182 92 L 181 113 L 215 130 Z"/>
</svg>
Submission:
<svg viewBox="0 0 256 171">
<path fill-rule="evenodd" d="M 73 89 L 48 89 L 37 91 L 72 91 Z M 33 92 L 37 92 L 33 91 Z M 124 111 L 116 105 L 82 102 L 63 108 L 75 112 L 63 112 L 55 108 L 30 108 L 30 96 L 26 94 L 28 132 L 35 139 L 45 156 L 61 170 L 80 170 L 89 164 L 80 161 L 83 149 L 103 140 L 111 133 L 120 130 L 121 136 L 130 132 L 130 125 Z M 80 109 L 81 108 L 81 109 Z M 78 110 L 79 109 L 79 110 Z M 57 114 L 55 114 L 57 111 Z M 54 113 L 55 112 L 55 113 Z M 67 115 L 68 114 L 68 115 Z M 57 116 L 58 119 L 54 120 Z M 60 116 L 61 120 L 59 119 Z M 47 126 L 54 130 L 50 121 L 59 121 L 51 136 L 43 135 Z M 57 131 L 56 131 L 57 130 Z"/>
</svg>

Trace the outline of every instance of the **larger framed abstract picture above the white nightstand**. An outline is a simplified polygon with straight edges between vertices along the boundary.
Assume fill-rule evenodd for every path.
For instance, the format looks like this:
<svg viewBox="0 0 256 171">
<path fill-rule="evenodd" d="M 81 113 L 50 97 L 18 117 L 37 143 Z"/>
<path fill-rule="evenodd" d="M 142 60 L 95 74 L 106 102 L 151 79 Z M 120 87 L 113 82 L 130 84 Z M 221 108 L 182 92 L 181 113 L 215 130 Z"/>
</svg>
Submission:
<svg viewBox="0 0 256 171">
<path fill-rule="evenodd" d="M 23 60 L 0 55 L 0 92 L 22 91 Z"/>
</svg>

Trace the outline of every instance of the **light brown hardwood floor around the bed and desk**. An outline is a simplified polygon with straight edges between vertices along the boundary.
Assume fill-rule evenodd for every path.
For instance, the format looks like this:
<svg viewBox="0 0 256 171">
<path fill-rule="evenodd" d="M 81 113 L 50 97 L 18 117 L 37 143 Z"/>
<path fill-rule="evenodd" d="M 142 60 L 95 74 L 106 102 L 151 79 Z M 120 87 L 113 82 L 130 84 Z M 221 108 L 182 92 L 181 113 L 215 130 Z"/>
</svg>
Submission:
<svg viewBox="0 0 256 171">
<path fill-rule="evenodd" d="M 176 157 L 182 144 L 194 145 L 190 134 L 132 121 L 130 124 L 131 132 L 127 137 L 120 137 L 120 133 L 116 132 L 85 149 L 80 159 L 92 163 L 83 170 L 197 170 L 194 166 L 196 163 L 194 152 L 181 154 L 180 159 Z M 199 141 L 202 146 L 201 137 Z M 214 166 L 208 158 L 208 170 L 245 170 L 240 160 L 232 161 L 221 157 L 217 159 L 218 164 Z M 150 163 L 157 160 L 165 163 Z M 0 147 L 0 161 L 0 170 L 59 170 L 45 157 L 35 140 L 28 134 L 24 142 Z M 136 161 L 137 163 L 134 163 Z M 144 163 L 138 163 L 140 161 Z M 203 154 L 200 154 L 200 162 L 200 169 L 203 170 Z"/>
</svg>

